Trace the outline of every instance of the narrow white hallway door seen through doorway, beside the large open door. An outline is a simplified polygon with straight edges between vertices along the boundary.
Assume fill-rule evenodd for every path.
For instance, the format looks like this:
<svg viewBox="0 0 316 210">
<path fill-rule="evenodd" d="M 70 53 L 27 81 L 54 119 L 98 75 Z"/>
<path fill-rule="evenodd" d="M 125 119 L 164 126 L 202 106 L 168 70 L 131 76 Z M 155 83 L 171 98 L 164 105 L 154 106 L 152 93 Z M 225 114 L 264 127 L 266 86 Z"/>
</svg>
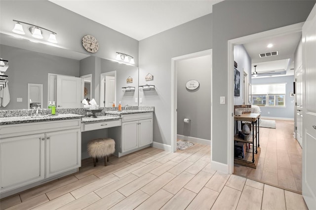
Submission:
<svg viewBox="0 0 316 210">
<path fill-rule="evenodd" d="M 303 134 L 303 69 L 302 66 L 296 71 L 295 78 L 296 97 L 296 139 L 302 146 Z"/>
</svg>

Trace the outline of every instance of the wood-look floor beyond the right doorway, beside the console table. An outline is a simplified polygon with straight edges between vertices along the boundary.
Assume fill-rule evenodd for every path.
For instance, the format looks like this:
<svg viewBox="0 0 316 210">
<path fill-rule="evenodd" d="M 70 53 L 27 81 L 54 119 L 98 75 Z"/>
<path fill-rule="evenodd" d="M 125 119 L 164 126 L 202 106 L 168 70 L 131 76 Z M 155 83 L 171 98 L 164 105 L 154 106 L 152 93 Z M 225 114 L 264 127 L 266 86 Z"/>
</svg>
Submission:
<svg viewBox="0 0 316 210">
<path fill-rule="evenodd" d="M 302 148 L 293 130 L 291 120 L 276 120 L 276 129 L 260 128 L 257 168 L 235 164 L 234 174 L 302 193 Z"/>
</svg>

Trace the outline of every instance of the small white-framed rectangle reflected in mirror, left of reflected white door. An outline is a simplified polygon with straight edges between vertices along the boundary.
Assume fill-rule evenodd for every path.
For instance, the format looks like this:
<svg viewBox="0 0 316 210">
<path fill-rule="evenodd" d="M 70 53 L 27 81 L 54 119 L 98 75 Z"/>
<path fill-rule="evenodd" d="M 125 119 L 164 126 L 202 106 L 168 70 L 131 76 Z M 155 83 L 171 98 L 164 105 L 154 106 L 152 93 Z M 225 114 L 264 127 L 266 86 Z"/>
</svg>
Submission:
<svg viewBox="0 0 316 210">
<path fill-rule="evenodd" d="M 28 83 L 28 109 L 43 108 L 43 84 Z"/>
</svg>

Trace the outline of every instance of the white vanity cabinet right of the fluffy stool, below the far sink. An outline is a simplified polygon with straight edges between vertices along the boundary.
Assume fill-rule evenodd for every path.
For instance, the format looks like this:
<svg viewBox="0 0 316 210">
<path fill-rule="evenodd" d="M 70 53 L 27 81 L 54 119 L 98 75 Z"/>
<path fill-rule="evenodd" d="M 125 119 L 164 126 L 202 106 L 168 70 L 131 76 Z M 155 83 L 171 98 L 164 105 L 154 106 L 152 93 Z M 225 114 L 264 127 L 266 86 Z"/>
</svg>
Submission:
<svg viewBox="0 0 316 210">
<path fill-rule="evenodd" d="M 121 153 L 153 143 L 153 113 L 122 115 Z"/>
</svg>

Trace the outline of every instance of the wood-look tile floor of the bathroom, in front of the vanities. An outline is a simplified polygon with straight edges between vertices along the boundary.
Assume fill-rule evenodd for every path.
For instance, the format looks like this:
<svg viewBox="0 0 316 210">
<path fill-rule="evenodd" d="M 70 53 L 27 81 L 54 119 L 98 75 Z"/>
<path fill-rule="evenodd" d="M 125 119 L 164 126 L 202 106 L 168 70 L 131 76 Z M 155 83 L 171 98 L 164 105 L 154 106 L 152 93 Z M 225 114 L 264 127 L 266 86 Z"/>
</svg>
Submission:
<svg viewBox="0 0 316 210">
<path fill-rule="evenodd" d="M 3 199 L 0 209 L 307 209 L 300 194 L 212 170 L 210 151 L 198 143 L 175 153 L 149 147 L 106 167 L 85 159 L 79 173 Z"/>
</svg>

